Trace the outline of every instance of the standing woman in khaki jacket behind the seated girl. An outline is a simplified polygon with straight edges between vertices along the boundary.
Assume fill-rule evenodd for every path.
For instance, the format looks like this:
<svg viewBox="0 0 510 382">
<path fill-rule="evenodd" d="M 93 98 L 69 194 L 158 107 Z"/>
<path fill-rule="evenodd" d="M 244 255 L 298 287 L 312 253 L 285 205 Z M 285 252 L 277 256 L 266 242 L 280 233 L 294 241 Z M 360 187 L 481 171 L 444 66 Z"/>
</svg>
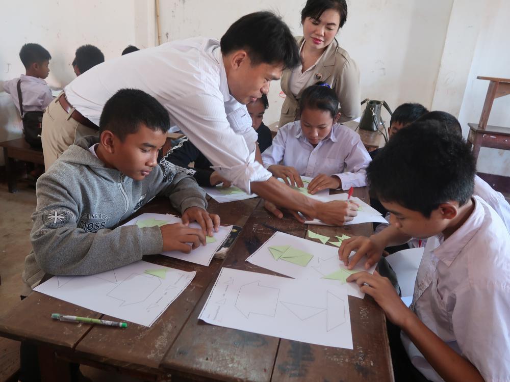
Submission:
<svg viewBox="0 0 510 382">
<path fill-rule="evenodd" d="M 360 71 L 335 36 L 347 19 L 345 0 L 308 0 L 301 11 L 303 36 L 297 37 L 301 64 L 283 72 L 281 86 L 286 94 L 279 126 L 300 118 L 299 98 L 304 89 L 324 81 L 340 101 L 339 121 L 361 114 Z"/>
</svg>

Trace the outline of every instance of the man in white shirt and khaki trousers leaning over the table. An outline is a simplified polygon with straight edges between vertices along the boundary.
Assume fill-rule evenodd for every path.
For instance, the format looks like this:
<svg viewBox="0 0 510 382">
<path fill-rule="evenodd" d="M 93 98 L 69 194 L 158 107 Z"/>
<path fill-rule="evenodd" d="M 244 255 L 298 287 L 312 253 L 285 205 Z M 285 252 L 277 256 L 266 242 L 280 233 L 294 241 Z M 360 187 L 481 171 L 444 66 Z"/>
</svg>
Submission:
<svg viewBox="0 0 510 382">
<path fill-rule="evenodd" d="M 291 192 L 256 161 L 256 156 L 261 161 L 257 133 L 245 105 L 267 93 L 270 81 L 299 60 L 288 26 L 270 12 L 256 12 L 232 24 L 221 42 L 192 38 L 106 61 L 74 79 L 48 106 L 42 132 L 45 166 L 75 139 L 94 133 L 115 92 L 135 88 L 163 104 L 171 122 L 225 179 L 288 208 L 302 222 L 297 211 L 341 225 L 355 216 L 355 206 Z M 173 165 L 163 161 L 161 166 Z"/>
</svg>

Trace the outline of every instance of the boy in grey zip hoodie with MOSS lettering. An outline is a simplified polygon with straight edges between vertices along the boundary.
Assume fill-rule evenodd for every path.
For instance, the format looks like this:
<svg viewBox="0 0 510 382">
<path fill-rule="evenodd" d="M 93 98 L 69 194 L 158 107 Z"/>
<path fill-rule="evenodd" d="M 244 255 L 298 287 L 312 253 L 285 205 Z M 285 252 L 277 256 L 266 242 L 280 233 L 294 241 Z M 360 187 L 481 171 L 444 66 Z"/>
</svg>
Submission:
<svg viewBox="0 0 510 382">
<path fill-rule="evenodd" d="M 205 193 L 179 167 L 158 165 L 170 127 L 168 113 L 152 96 L 122 89 L 106 103 L 100 137 L 69 147 L 37 181 L 37 207 L 23 281 L 31 289 L 45 274 L 91 275 L 178 250 L 189 253 L 217 231 Z M 184 224 L 139 228 L 117 224 L 155 196 L 167 196 Z M 196 221 L 202 229 L 188 224 Z M 24 291 L 24 295 L 30 292 Z"/>
</svg>

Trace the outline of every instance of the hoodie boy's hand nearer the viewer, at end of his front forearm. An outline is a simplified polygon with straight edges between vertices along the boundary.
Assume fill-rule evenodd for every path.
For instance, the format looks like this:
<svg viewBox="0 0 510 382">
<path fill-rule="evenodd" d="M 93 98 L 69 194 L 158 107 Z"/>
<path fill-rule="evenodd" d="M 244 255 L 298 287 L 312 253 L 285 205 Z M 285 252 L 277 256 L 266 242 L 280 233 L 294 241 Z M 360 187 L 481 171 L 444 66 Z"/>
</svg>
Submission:
<svg viewBox="0 0 510 382">
<path fill-rule="evenodd" d="M 163 236 L 163 251 L 190 253 L 191 250 L 198 248 L 200 243 L 206 245 L 206 235 L 198 228 L 173 223 L 161 226 L 160 230 Z"/>
</svg>

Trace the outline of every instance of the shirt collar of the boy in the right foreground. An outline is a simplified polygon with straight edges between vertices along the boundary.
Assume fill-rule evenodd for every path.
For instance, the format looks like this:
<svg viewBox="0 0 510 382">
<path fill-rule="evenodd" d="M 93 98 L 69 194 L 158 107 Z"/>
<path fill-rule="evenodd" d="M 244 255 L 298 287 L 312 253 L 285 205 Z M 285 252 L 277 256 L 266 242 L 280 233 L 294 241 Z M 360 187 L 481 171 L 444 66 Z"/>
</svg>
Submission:
<svg viewBox="0 0 510 382">
<path fill-rule="evenodd" d="M 458 254 L 461 253 L 483 224 L 485 216 L 483 206 L 476 197 L 472 198 L 472 200 L 475 208 L 464 224 L 453 232 L 453 234 L 446 240 L 444 240 L 442 234 L 436 236 L 441 244 L 438 248 L 433 250 L 432 253 L 448 267 L 453 263 Z"/>
</svg>

